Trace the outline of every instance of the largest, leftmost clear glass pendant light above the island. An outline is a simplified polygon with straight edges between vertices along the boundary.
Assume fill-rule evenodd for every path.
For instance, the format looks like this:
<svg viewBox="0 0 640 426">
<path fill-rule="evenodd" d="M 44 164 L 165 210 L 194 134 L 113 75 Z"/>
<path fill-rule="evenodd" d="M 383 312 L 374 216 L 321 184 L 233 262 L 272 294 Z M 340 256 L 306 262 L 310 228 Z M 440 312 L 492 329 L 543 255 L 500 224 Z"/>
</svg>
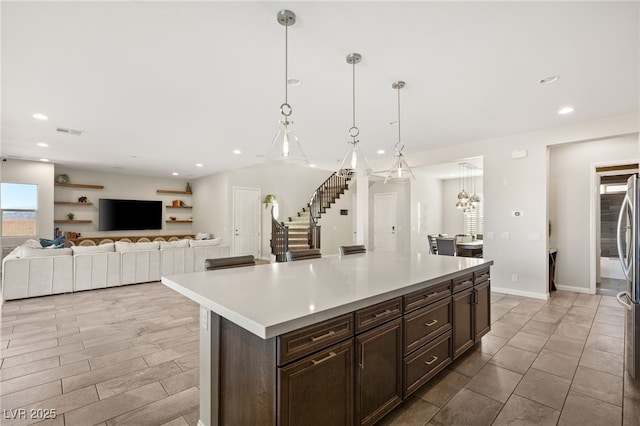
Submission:
<svg viewBox="0 0 640 426">
<path fill-rule="evenodd" d="M 271 146 L 267 151 L 264 161 L 265 163 L 280 162 L 308 165 L 309 160 L 306 155 L 304 155 L 302 145 L 293 131 L 293 121 L 290 118 L 293 108 L 291 108 L 288 101 L 289 27 L 296 23 L 296 14 L 290 10 L 281 10 L 278 12 L 277 20 L 280 25 L 284 26 L 284 103 L 280 105 L 280 114 L 282 114 L 280 127 L 271 141 Z"/>
</svg>

